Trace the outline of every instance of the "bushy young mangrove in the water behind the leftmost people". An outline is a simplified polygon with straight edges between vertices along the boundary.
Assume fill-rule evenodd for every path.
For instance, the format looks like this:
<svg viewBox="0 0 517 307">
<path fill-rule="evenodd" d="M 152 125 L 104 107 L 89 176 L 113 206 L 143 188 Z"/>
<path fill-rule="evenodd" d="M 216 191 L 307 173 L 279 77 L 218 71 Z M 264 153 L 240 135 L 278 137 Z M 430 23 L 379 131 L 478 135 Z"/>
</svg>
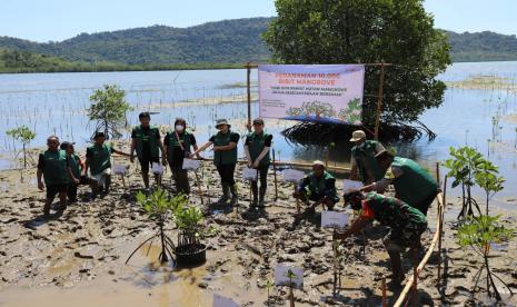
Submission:
<svg viewBox="0 0 517 307">
<path fill-rule="evenodd" d="M 126 91 L 117 85 L 105 85 L 90 96 L 91 106 L 87 109 L 90 120 L 97 121 L 96 131 L 103 131 L 106 138 L 118 138 L 126 123 L 126 112 L 132 110 L 126 101 Z"/>
</svg>

